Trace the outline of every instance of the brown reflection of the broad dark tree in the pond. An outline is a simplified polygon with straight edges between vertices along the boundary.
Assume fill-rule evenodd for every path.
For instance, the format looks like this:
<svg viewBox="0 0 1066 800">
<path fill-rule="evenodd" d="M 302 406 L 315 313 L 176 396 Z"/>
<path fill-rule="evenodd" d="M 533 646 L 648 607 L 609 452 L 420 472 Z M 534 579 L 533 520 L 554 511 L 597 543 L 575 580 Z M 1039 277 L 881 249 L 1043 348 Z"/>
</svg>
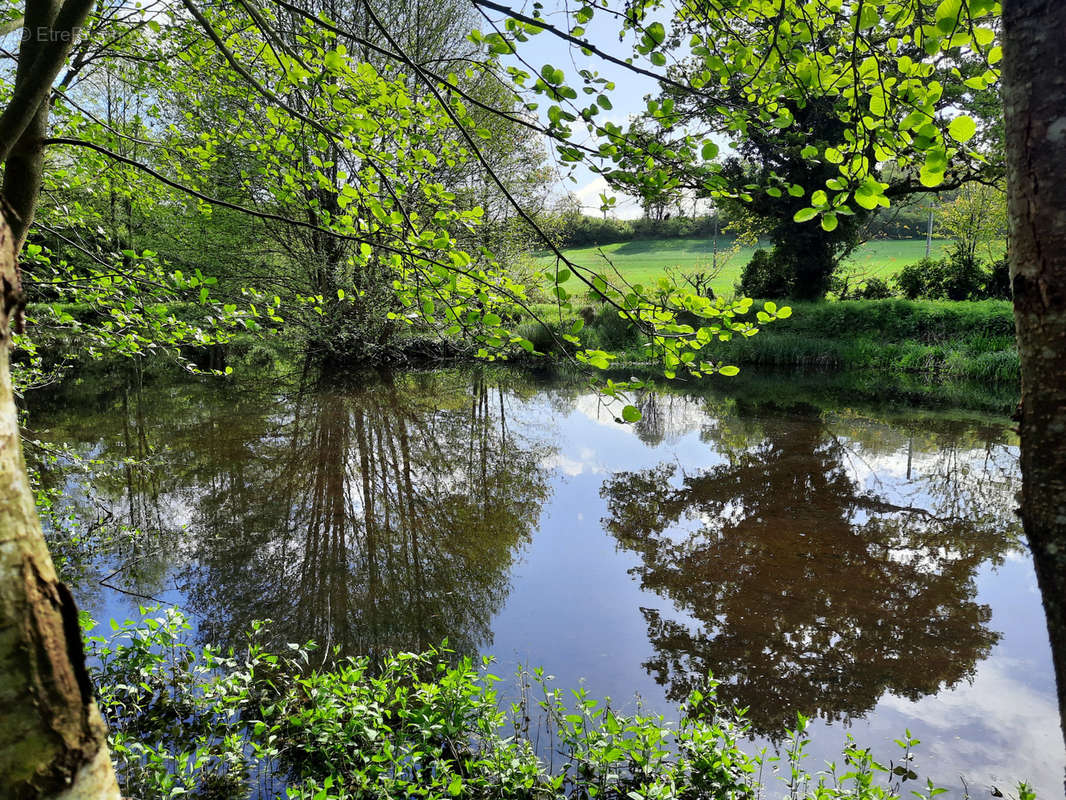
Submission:
<svg viewBox="0 0 1066 800">
<path fill-rule="evenodd" d="M 847 718 L 886 690 L 918 699 L 971 677 L 999 638 L 974 576 L 1015 542 L 1010 526 L 862 491 L 817 417 L 762 430 L 712 469 L 619 473 L 602 489 L 642 586 L 694 620 L 644 610 L 649 673 L 680 699 L 713 672 L 768 734 L 797 710 Z"/>
</svg>

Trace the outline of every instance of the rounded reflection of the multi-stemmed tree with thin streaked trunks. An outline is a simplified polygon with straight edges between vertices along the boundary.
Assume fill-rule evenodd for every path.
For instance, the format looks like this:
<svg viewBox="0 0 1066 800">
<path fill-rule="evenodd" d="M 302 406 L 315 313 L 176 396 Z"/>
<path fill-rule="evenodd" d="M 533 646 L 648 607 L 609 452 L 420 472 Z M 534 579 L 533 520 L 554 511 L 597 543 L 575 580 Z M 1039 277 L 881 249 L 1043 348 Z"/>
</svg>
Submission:
<svg viewBox="0 0 1066 800">
<path fill-rule="evenodd" d="M 548 487 L 502 393 L 474 379 L 464 396 L 441 407 L 413 381 L 302 393 L 197 501 L 185 590 L 205 638 L 270 618 L 279 640 L 352 653 L 488 644 Z"/>
</svg>

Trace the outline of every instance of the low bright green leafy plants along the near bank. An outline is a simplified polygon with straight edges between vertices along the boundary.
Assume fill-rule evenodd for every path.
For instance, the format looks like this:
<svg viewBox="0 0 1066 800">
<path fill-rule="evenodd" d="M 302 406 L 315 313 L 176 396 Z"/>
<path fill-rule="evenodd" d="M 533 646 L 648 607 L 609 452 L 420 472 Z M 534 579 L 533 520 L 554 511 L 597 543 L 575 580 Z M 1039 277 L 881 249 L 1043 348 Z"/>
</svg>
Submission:
<svg viewBox="0 0 1066 800">
<path fill-rule="evenodd" d="M 110 640 L 88 637 L 116 771 L 125 794 L 144 800 L 190 793 L 697 800 L 750 797 L 773 772 L 794 798 L 890 800 L 910 786 L 920 786 L 920 798 L 942 791 L 917 783 L 919 742 L 909 735 L 892 769 L 849 736 L 840 767 L 812 774 L 803 765 L 808 737 L 801 716 L 781 755 L 748 755 L 748 725 L 717 703 L 712 681 L 692 692 L 676 723 L 624 716 L 584 690 L 564 695 L 539 670 L 523 676 L 519 702 L 503 707 L 490 661 L 479 668 L 447 647 L 313 667 L 312 645 L 265 650 L 260 624 L 240 652 L 194 649 L 179 612 L 154 610 L 142 609 L 148 615 L 138 624 L 113 622 Z M 538 757 L 542 733 L 560 759 L 556 769 Z"/>
</svg>

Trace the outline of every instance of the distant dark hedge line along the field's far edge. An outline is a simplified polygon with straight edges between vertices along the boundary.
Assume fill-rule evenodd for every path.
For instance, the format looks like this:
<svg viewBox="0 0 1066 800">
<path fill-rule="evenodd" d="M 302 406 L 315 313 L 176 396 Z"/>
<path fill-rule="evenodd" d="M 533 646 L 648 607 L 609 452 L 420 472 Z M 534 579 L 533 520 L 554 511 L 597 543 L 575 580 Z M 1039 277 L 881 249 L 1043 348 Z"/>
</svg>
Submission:
<svg viewBox="0 0 1066 800">
<path fill-rule="evenodd" d="M 928 211 L 919 208 L 892 208 L 875 215 L 867 223 L 867 239 L 923 239 L 928 222 Z M 715 224 L 720 235 L 728 236 L 730 223 L 725 211 L 699 217 L 667 217 L 662 220 L 615 220 L 601 217 L 568 213 L 558 227 L 560 244 L 564 247 L 591 247 L 633 239 L 702 239 L 714 236 Z"/>
</svg>

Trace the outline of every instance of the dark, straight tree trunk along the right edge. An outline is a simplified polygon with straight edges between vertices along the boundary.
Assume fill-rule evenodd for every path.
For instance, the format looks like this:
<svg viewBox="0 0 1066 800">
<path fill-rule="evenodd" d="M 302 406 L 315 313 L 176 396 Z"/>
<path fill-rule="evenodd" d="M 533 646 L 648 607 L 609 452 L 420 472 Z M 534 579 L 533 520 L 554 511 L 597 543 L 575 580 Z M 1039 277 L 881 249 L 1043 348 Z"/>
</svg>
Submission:
<svg viewBox="0 0 1066 800">
<path fill-rule="evenodd" d="M 1066 732 L 1066 3 L 1005 0 L 1003 28 L 1021 518 Z"/>
</svg>

